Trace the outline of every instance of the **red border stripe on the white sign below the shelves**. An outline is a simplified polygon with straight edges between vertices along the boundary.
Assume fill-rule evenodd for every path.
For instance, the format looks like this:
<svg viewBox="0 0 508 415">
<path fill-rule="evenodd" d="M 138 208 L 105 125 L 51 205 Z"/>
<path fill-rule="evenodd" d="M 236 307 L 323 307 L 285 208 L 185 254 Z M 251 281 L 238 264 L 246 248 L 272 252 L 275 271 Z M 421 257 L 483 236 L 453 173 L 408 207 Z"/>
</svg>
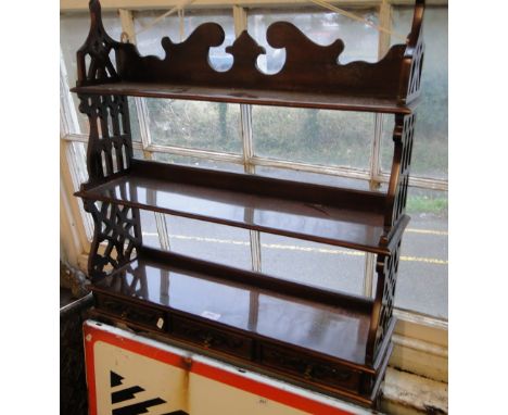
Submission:
<svg viewBox="0 0 508 415">
<path fill-rule="evenodd" d="M 158 362 L 176 366 L 183 370 L 204 376 L 208 379 L 216 380 L 220 383 L 231 386 L 233 388 L 244 390 L 250 393 L 269 399 L 304 411 L 310 414 L 319 415 L 352 415 L 353 413 L 327 405 L 321 402 L 314 401 L 309 398 L 304 398 L 300 394 L 275 388 L 257 380 L 249 379 L 243 376 L 209 366 L 201 362 L 186 361 L 186 357 L 178 354 L 157 349 L 153 345 L 141 343 L 123 336 L 113 335 L 112 332 L 101 330 L 97 327 L 84 324 L 85 335 L 85 361 L 87 368 L 87 383 L 89 393 L 90 415 L 97 415 L 97 395 L 96 395 L 96 368 L 93 360 L 93 349 L 98 341 L 103 341 L 120 349 L 128 350 L 132 353 L 140 354 L 145 357 L 156 360 Z"/>
</svg>

